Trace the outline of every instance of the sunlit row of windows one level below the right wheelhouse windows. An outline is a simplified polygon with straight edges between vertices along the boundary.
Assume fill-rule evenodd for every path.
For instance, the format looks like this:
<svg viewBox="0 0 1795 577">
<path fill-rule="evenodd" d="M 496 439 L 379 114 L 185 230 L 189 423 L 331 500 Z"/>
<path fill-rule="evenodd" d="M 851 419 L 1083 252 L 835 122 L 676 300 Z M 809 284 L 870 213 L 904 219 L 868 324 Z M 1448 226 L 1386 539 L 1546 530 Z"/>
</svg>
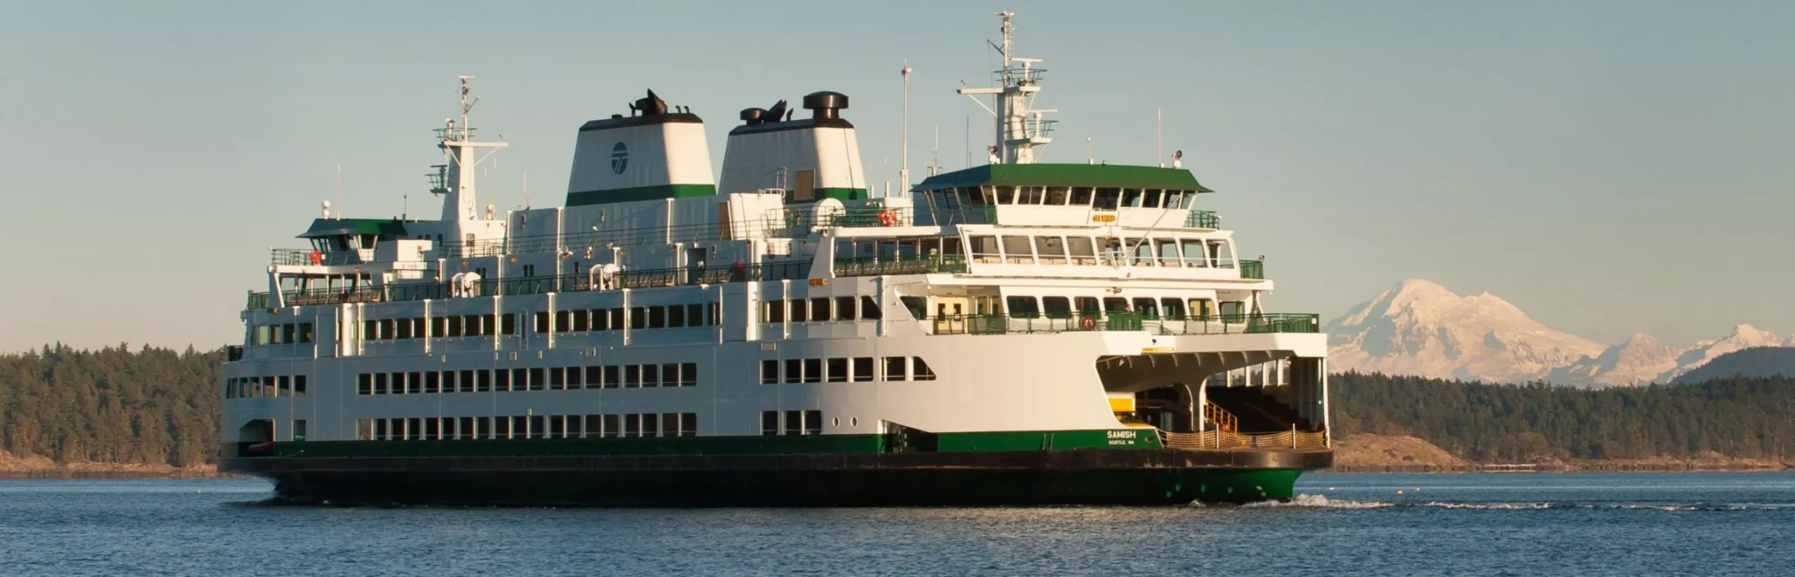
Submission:
<svg viewBox="0 0 1795 577">
<path fill-rule="evenodd" d="M 993 264 L 1233 268 L 1228 241 L 1057 235 L 971 235 L 968 253 Z"/>
</svg>

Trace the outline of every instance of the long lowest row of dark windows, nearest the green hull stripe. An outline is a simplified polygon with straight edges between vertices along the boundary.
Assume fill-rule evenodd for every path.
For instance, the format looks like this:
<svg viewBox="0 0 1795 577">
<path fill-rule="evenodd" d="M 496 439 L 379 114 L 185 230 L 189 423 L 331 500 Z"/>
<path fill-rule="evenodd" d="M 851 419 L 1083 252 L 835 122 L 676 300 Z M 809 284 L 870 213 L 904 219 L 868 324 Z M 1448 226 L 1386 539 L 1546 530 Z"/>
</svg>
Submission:
<svg viewBox="0 0 1795 577">
<path fill-rule="evenodd" d="M 355 419 L 357 440 L 639 439 L 696 435 L 698 413 Z"/>
</svg>

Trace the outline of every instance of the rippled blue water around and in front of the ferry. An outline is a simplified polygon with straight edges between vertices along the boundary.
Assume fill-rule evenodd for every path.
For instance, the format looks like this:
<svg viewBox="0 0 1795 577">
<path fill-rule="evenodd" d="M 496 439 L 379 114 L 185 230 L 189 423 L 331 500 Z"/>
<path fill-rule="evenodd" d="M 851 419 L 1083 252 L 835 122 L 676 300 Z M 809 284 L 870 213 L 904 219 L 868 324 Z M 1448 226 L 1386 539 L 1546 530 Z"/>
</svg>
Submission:
<svg viewBox="0 0 1795 577">
<path fill-rule="evenodd" d="M 0 482 L 0 575 L 1795 572 L 1790 473 L 1309 475 L 1292 503 L 1167 509 L 325 509 L 267 491 Z"/>
</svg>

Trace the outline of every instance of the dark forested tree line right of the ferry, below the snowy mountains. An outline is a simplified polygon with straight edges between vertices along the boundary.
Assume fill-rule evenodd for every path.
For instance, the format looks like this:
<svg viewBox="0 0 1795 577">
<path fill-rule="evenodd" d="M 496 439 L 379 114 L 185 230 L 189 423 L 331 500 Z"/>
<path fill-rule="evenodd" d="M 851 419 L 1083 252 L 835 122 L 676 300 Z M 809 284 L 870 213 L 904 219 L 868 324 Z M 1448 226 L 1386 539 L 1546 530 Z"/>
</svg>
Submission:
<svg viewBox="0 0 1795 577">
<path fill-rule="evenodd" d="M 1384 374 L 1328 381 L 1335 437 L 1414 435 L 1461 458 L 1795 457 L 1795 379 L 1569 388 Z"/>
</svg>

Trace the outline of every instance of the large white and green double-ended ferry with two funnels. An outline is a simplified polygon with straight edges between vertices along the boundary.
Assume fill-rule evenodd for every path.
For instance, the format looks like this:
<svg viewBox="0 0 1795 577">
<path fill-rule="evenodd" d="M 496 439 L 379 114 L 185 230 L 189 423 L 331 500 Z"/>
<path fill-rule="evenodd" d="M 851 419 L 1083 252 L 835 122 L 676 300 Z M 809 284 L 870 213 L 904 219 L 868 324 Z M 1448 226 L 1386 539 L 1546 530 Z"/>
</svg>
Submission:
<svg viewBox="0 0 1795 577">
<path fill-rule="evenodd" d="M 1289 500 L 1334 460 L 1318 316 L 1269 311 L 1181 153 L 1036 162 L 1046 70 L 998 16 L 996 86 L 959 88 L 989 162 L 896 194 L 844 93 L 741 110 L 714 173 L 650 90 L 578 128 L 562 207 L 497 212 L 461 77 L 438 219 L 325 203 L 271 252 L 219 469 L 298 503 Z"/>
</svg>

